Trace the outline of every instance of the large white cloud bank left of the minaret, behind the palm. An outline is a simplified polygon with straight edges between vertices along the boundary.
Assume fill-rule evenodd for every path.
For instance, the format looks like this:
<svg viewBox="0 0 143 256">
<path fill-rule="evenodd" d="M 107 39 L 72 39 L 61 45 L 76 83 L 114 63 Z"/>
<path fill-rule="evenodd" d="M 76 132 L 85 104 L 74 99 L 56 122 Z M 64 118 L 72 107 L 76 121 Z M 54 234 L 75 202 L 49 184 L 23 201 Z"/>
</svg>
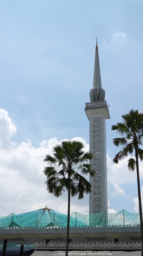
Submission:
<svg viewBox="0 0 143 256">
<path fill-rule="evenodd" d="M 32 146 L 30 140 L 19 145 L 13 143 L 16 126 L 4 109 L 0 109 L 0 127 L 0 214 L 27 212 L 46 205 L 52 210 L 66 213 L 67 193 L 58 199 L 49 194 L 43 173 L 46 166 L 43 162 L 45 155 L 52 154 L 52 147 L 61 141 L 56 137 L 44 140 L 37 148 Z M 73 139 L 83 142 L 85 151 L 89 150 L 89 144 L 84 139 Z M 73 198 L 71 212 L 82 211 L 88 214 L 88 198 L 87 195 L 84 200 Z"/>
</svg>

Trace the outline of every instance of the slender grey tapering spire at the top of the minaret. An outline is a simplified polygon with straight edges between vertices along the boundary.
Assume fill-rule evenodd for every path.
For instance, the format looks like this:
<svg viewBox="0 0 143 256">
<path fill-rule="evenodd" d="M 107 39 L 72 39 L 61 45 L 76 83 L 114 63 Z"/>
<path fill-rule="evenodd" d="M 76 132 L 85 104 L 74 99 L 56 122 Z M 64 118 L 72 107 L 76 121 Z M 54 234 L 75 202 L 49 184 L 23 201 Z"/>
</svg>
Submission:
<svg viewBox="0 0 143 256">
<path fill-rule="evenodd" d="M 101 85 L 101 75 L 100 75 L 100 66 L 99 66 L 98 46 L 97 46 L 97 38 L 96 38 L 96 50 L 95 50 L 95 62 L 94 62 L 93 87 L 100 87 L 100 88 L 102 88 L 102 85 Z"/>
</svg>

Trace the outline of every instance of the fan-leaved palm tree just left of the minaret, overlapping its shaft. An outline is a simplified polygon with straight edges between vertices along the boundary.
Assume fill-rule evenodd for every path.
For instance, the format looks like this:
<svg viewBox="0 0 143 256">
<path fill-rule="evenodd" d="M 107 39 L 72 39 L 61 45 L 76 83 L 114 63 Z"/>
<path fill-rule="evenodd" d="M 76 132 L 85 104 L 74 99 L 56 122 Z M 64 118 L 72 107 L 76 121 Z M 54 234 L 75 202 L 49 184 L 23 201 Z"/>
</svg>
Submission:
<svg viewBox="0 0 143 256">
<path fill-rule="evenodd" d="M 48 166 L 44 168 L 46 175 L 46 189 L 55 197 L 60 197 L 65 190 L 68 191 L 68 218 L 66 256 L 68 256 L 69 229 L 70 229 L 70 196 L 82 199 L 84 194 L 91 192 L 91 184 L 83 175 L 94 176 L 92 165 L 92 153 L 83 151 L 84 145 L 78 141 L 63 141 L 53 147 L 54 157 L 46 155 L 44 161 Z M 81 174 L 79 173 L 81 172 Z"/>
</svg>

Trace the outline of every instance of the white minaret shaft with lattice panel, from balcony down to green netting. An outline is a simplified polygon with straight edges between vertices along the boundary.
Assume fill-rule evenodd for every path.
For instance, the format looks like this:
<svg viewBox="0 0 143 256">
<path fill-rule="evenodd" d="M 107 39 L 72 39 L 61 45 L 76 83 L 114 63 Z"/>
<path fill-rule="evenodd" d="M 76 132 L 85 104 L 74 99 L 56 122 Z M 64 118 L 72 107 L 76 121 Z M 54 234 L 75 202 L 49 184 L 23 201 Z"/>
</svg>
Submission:
<svg viewBox="0 0 143 256">
<path fill-rule="evenodd" d="M 87 103 L 88 104 L 88 103 Z M 108 210 L 107 200 L 107 162 L 106 162 L 106 122 L 110 118 L 108 107 L 92 109 L 86 104 L 85 112 L 89 119 L 89 151 L 93 154 L 90 163 L 96 171 L 94 177 L 89 177 L 92 184 L 92 192 L 89 195 L 89 214 Z M 103 104 L 103 103 L 102 103 Z"/>
</svg>

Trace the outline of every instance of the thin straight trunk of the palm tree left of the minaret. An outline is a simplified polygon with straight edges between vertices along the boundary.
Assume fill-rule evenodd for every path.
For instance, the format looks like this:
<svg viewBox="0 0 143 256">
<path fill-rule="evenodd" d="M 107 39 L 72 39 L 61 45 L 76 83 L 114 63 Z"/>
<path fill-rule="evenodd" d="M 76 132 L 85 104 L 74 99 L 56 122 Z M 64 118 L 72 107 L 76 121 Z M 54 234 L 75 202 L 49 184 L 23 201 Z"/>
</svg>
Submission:
<svg viewBox="0 0 143 256">
<path fill-rule="evenodd" d="M 67 218 L 67 239 L 66 239 L 66 255 L 68 256 L 68 243 L 70 231 L 70 173 L 68 174 L 68 218 Z"/>
</svg>

